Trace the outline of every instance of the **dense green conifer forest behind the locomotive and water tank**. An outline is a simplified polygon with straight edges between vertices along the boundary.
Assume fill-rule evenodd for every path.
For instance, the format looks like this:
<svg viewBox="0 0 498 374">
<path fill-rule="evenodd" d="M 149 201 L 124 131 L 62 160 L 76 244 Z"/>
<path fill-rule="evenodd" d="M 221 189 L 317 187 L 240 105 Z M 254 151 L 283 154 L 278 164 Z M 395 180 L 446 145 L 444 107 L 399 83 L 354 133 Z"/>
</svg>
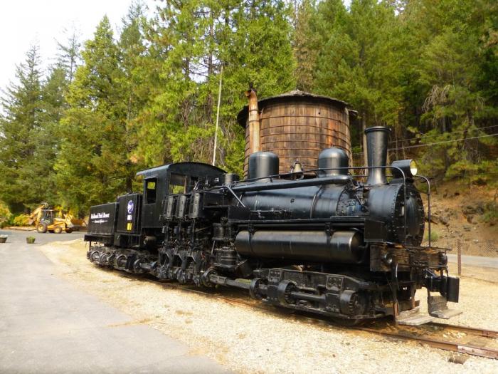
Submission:
<svg viewBox="0 0 498 374">
<path fill-rule="evenodd" d="M 290 90 L 349 103 L 354 164 L 362 129 L 434 180 L 498 186 L 498 2 L 493 0 L 134 1 L 119 31 L 68 33 L 1 87 L 0 202 L 88 214 L 139 190 L 137 171 L 211 163 L 243 175 L 237 113 Z M 58 37 L 58 36 L 54 36 Z M 62 38 L 61 38 L 62 39 Z"/>
</svg>

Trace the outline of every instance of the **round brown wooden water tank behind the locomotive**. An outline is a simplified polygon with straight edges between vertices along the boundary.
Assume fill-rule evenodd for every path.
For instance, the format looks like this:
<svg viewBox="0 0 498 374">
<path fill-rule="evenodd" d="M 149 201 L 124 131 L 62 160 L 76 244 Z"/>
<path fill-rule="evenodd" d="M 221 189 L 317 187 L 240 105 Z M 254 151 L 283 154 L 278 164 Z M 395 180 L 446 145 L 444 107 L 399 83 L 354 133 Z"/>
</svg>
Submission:
<svg viewBox="0 0 498 374">
<path fill-rule="evenodd" d="M 303 170 L 317 168 L 318 155 L 325 148 L 346 151 L 351 165 L 349 110 L 344 101 L 300 90 L 258 101 L 260 150 L 280 158 L 280 173 L 290 172 L 299 161 Z M 248 107 L 240 110 L 238 123 L 245 128 L 244 175 L 250 155 Z"/>
</svg>

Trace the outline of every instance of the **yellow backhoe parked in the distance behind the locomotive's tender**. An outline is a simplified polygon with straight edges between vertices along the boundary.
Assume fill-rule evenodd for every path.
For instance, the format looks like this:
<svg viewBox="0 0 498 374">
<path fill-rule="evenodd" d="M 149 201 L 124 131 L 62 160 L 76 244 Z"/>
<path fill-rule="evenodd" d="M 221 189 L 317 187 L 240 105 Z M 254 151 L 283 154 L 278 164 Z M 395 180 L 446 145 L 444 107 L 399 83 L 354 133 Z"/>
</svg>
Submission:
<svg viewBox="0 0 498 374">
<path fill-rule="evenodd" d="M 42 202 L 38 208 L 33 210 L 28 223 L 33 224 L 37 232 L 55 232 L 55 234 L 63 231 L 70 233 L 86 227 L 83 219 L 75 219 L 70 213 L 64 213 L 62 210 L 48 209 L 46 202 Z"/>
</svg>

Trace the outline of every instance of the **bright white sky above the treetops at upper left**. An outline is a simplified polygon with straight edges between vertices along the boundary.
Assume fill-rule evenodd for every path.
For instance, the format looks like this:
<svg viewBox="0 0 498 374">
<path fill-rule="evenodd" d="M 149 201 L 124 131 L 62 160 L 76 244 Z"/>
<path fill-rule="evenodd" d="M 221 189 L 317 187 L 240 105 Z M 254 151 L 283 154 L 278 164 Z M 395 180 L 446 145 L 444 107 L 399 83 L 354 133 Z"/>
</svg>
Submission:
<svg viewBox="0 0 498 374">
<path fill-rule="evenodd" d="M 142 0 L 154 9 L 154 0 Z M 57 41 L 65 43 L 64 29 L 80 31 L 86 41 L 107 14 L 115 29 L 132 0 L 0 0 L 0 90 L 14 80 L 16 65 L 24 61 L 33 43 L 40 46 L 43 68 L 53 63 Z M 0 92 L 1 95 L 1 92 Z"/>
</svg>

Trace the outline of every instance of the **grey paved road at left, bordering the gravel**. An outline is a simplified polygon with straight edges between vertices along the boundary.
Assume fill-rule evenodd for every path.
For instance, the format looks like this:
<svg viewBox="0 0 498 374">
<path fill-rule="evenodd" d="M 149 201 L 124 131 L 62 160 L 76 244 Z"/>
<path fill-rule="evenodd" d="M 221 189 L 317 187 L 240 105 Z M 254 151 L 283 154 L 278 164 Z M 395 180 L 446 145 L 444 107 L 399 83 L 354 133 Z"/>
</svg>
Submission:
<svg viewBox="0 0 498 374">
<path fill-rule="evenodd" d="M 9 234 L 0 244 L 0 373 L 228 373 L 184 344 L 53 275 L 37 246 L 82 233 Z"/>
</svg>

